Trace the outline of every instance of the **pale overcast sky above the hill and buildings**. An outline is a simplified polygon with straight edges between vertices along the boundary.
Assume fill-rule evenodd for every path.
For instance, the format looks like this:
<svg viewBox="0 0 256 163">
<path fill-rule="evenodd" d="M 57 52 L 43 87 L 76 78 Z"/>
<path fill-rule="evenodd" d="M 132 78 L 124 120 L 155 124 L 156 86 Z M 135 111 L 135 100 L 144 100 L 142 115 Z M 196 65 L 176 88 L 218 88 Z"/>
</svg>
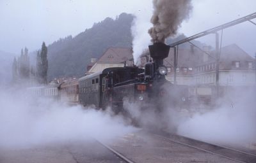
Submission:
<svg viewBox="0 0 256 163">
<path fill-rule="evenodd" d="M 191 17 L 182 24 L 179 32 L 191 36 L 255 11 L 255 0 L 193 0 Z M 106 17 L 115 18 L 122 12 L 141 12 L 150 17 L 152 1 L 0 0 L 0 50 L 20 53 L 24 46 L 30 51 L 37 50 L 42 41 L 49 45 L 70 34 L 76 36 L 93 23 Z M 245 22 L 224 31 L 223 46 L 237 43 L 254 55 L 255 36 L 256 25 Z M 214 43 L 213 35 L 199 40 Z"/>
</svg>

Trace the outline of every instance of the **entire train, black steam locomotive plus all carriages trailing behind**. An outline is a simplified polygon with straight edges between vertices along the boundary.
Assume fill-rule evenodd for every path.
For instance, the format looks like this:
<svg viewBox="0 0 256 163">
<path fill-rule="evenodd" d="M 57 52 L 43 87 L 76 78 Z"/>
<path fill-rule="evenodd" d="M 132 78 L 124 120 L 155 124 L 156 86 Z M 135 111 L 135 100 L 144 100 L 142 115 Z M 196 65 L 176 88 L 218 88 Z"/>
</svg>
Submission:
<svg viewBox="0 0 256 163">
<path fill-rule="evenodd" d="M 168 57 L 170 46 L 154 43 L 148 47 L 153 61 L 145 64 L 145 69 L 137 66 L 109 67 L 78 81 L 37 87 L 30 92 L 70 104 L 93 105 L 102 109 L 111 107 L 115 113 L 124 111 L 124 100 L 140 104 L 141 108 L 150 106 L 156 110 L 164 108 L 164 104 L 176 108 L 187 104 L 188 89 L 174 86 L 165 79 L 167 69 L 163 66 L 163 59 Z"/>
</svg>

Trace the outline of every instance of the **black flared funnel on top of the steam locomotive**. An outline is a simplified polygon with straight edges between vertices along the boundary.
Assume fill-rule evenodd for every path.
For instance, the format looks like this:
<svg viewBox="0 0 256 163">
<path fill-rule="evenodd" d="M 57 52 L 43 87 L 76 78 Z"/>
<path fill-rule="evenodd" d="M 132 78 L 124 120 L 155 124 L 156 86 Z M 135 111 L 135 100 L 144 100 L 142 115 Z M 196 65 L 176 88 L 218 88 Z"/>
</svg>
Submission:
<svg viewBox="0 0 256 163">
<path fill-rule="evenodd" d="M 170 46 L 164 43 L 154 43 L 154 45 L 148 46 L 150 57 L 156 63 L 156 69 L 159 66 L 163 66 L 163 60 L 168 57 Z"/>
</svg>

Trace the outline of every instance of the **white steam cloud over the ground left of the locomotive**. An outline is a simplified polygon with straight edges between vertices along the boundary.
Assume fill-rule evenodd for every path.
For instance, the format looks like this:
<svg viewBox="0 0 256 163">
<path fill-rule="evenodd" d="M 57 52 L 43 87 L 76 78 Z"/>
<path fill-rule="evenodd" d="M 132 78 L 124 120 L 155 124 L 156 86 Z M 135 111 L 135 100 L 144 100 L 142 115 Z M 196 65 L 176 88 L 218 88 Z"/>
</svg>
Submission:
<svg viewBox="0 0 256 163">
<path fill-rule="evenodd" d="M 0 148 L 96 138 L 100 141 L 135 131 L 108 111 L 31 99 L 17 90 L 0 93 Z"/>
</svg>

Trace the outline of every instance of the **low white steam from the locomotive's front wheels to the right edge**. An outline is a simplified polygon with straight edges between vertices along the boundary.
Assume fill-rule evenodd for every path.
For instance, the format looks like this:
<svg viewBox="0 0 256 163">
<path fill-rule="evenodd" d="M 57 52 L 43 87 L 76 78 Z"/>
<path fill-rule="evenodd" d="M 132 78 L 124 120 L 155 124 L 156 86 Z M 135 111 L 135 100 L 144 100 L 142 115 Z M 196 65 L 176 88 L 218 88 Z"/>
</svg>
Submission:
<svg viewBox="0 0 256 163">
<path fill-rule="evenodd" d="M 141 110 L 141 104 L 129 101 L 124 101 L 124 108 L 143 127 L 156 127 L 218 145 L 256 148 L 256 101 L 253 89 L 249 91 L 234 88 L 234 92 L 226 94 L 211 109 L 189 108 L 182 104 L 172 106 L 179 100 L 180 90 L 164 90 L 168 90 L 173 97 L 163 100 L 162 111 L 157 106 L 148 104 L 143 104 L 146 109 Z M 156 103 L 156 99 L 151 101 Z"/>
</svg>

